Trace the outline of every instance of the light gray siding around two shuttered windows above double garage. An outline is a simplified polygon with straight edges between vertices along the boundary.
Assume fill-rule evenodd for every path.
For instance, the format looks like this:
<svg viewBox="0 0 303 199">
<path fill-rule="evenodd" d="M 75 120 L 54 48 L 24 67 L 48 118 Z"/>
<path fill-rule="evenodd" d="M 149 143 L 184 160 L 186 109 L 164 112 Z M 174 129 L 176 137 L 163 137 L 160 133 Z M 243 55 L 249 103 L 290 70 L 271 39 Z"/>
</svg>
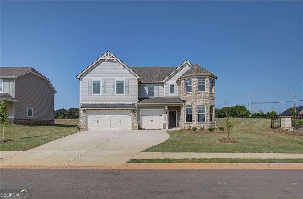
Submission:
<svg viewBox="0 0 303 199">
<path fill-rule="evenodd" d="M 137 79 L 125 78 L 128 81 L 128 94 L 112 94 L 112 81 L 122 80 L 121 78 L 83 78 L 81 79 L 80 104 L 85 103 L 136 103 L 137 102 Z M 124 80 L 124 78 L 123 78 Z M 88 94 L 88 81 L 100 81 L 101 94 Z M 102 94 L 102 81 L 105 81 L 105 94 Z M 124 88 L 125 88 L 124 81 Z M 92 82 L 93 85 L 93 82 Z M 115 88 L 116 89 L 116 88 Z M 93 89 L 92 89 L 93 91 Z"/>
</svg>

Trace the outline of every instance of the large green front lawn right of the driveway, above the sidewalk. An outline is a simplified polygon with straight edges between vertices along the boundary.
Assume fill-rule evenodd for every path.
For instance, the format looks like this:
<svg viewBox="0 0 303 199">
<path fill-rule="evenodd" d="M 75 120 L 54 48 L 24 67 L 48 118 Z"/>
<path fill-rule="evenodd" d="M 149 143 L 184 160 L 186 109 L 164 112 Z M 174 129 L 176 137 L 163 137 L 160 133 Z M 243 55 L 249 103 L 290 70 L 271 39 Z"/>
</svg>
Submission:
<svg viewBox="0 0 303 199">
<path fill-rule="evenodd" d="M 217 127 L 225 126 L 217 118 Z M 142 152 L 225 152 L 225 153 L 303 153 L 303 136 L 281 133 L 270 129 L 270 119 L 231 119 L 234 126 L 230 138 L 237 144 L 218 141 L 227 137 L 224 132 L 190 133 L 167 131 L 170 138 Z"/>
</svg>

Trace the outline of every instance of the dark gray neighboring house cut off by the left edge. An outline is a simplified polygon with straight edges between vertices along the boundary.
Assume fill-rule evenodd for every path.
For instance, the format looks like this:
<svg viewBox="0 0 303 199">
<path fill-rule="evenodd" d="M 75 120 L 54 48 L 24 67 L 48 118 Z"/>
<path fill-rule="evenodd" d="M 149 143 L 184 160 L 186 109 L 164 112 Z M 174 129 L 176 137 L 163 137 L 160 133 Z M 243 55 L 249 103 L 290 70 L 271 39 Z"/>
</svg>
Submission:
<svg viewBox="0 0 303 199">
<path fill-rule="evenodd" d="M 5 101 L 10 124 L 54 124 L 51 82 L 32 67 L 0 68 L 0 101 Z"/>
</svg>

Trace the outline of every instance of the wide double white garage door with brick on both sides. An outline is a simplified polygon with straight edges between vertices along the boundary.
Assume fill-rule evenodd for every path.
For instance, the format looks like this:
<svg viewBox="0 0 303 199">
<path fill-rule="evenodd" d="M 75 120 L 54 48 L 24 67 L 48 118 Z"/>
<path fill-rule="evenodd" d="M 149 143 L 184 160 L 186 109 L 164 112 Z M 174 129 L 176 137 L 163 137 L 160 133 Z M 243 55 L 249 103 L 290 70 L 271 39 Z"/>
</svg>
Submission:
<svg viewBox="0 0 303 199">
<path fill-rule="evenodd" d="M 87 130 L 132 129 L 131 111 L 86 111 Z"/>
</svg>

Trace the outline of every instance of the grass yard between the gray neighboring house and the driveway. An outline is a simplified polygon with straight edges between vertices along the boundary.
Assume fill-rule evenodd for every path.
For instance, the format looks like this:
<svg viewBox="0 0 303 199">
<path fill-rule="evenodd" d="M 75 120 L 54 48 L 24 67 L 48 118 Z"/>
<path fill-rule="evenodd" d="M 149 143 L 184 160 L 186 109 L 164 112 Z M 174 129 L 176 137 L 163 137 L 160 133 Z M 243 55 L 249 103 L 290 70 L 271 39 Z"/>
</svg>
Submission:
<svg viewBox="0 0 303 199">
<path fill-rule="evenodd" d="M 0 151 L 26 151 L 50 141 L 77 132 L 79 120 L 56 119 L 54 125 L 13 125 L 4 128 L 4 137 L 13 141 L 2 142 Z M 1 128 L 1 138 L 3 136 Z"/>
</svg>

